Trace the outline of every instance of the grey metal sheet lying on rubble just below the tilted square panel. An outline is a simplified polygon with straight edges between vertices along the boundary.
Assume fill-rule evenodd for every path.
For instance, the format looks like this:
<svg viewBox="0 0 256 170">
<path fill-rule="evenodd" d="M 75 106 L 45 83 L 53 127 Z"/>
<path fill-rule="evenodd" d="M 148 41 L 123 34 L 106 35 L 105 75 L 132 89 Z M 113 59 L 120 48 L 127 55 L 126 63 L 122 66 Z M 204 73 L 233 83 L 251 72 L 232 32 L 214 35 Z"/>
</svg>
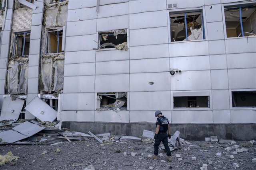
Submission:
<svg viewBox="0 0 256 170">
<path fill-rule="evenodd" d="M 28 137 L 42 131 L 45 127 L 38 126 L 34 123 L 30 123 L 29 121 L 25 121 L 20 125 L 13 128 L 13 130 L 22 133 L 23 135 L 27 135 Z"/>
</svg>

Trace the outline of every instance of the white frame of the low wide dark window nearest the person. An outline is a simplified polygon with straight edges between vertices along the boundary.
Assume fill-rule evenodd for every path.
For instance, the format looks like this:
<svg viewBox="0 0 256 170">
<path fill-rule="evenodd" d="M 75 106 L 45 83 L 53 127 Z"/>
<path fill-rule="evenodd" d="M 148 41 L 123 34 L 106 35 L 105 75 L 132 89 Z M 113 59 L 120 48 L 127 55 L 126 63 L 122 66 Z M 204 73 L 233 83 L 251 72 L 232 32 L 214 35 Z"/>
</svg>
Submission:
<svg viewBox="0 0 256 170">
<path fill-rule="evenodd" d="M 174 107 L 174 97 L 187 97 L 187 96 L 209 96 L 209 107 Z M 210 90 L 191 90 L 191 91 L 171 91 L 171 110 L 212 110 L 212 93 Z"/>
</svg>

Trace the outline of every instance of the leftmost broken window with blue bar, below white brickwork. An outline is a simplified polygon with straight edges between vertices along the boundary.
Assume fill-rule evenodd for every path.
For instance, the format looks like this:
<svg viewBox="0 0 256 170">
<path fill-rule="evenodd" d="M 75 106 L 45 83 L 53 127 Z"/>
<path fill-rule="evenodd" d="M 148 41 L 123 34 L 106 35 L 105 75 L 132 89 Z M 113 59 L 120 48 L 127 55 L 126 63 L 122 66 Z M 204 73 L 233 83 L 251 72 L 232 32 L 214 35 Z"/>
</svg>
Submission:
<svg viewBox="0 0 256 170">
<path fill-rule="evenodd" d="M 29 55 L 30 32 L 15 33 L 12 56 Z"/>
</svg>

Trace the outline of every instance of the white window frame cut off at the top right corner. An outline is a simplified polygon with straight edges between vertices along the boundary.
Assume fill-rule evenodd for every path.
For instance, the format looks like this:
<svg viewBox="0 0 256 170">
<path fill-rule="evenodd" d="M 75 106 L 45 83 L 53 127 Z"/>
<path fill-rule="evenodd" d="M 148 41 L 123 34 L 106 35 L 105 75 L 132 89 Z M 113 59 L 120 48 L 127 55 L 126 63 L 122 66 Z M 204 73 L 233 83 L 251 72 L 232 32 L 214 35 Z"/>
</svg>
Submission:
<svg viewBox="0 0 256 170">
<path fill-rule="evenodd" d="M 240 12 L 241 12 L 241 8 L 242 7 L 246 7 L 246 6 L 252 6 L 252 5 L 256 5 L 256 1 L 254 2 L 236 2 L 236 3 L 225 3 L 225 4 L 221 4 L 221 8 L 222 8 L 222 21 L 223 21 L 223 29 L 224 29 L 224 37 L 225 39 L 236 39 L 236 38 L 248 38 L 250 36 L 241 36 L 241 37 L 227 37 L 227 29 L 226 29 L 226 20 L 225 20 L 225 12 L 224 9 L 226 8 L 239 8 Z M 240 13 L 240 25 L 241 25 L 241 32 L 242 34 L 244 34 L 244 31 L 242 29 L 242 15 Z M 252 37 L 256 37 L 252 36 Z M 251 37 L 250 37 L 251 38 Z"/>
</svg>

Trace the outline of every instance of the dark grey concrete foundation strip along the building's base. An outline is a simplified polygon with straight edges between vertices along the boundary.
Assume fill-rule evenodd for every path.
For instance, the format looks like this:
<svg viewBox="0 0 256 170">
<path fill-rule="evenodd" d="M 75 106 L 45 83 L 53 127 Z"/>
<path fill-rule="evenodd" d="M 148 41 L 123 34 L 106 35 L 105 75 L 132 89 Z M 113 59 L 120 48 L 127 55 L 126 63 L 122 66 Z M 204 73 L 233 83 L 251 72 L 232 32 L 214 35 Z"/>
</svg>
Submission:
<svg viewBox="0 0 256 170">
<path fill-rule="evenodd" d="M 94 134 L 128 135 L 141 137 L 143 130 L 155 131 L 152 123 L 102 123 L 102 122 L 62 122 L 62 127 L 71 131 Z M 256 124 L 170 124 L 171 134 L 180 131 L 180 137 L 189 141 L 204 141 L 205 137 L 250 141 L 256 139 Z"/>
</svg>

